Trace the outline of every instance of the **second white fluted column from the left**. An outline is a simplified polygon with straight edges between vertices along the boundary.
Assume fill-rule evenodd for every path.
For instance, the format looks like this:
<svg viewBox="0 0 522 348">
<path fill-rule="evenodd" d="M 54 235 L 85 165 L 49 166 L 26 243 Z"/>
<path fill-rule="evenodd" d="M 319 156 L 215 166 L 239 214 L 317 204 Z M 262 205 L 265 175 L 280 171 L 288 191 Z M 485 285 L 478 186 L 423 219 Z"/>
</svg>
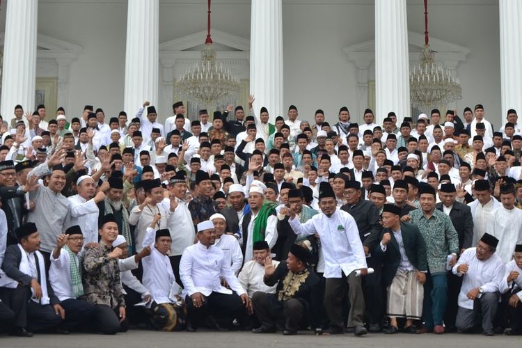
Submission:
<svg viewBox="0 0 522 348">
<path fill-rule="evenodd" d="M 123 100 L 129 118 L 145 100 L 158 109 L 158 17 L 158 0 L 129 0 Z"/>
</svg>

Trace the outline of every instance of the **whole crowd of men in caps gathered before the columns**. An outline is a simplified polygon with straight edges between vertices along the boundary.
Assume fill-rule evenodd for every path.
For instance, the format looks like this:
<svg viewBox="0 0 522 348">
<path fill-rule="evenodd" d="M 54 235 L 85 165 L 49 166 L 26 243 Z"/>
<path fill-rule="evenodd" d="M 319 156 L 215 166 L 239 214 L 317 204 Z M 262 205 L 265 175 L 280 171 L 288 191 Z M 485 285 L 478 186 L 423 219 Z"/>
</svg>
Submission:
<svg viewBox="0 0 522 348">
<path fill-rule="evenodd" d="M 495 131 L 481 104 L 358 125 L 254 103 L 163 124 L 146 101 L 130 122 L 16 106 L 0 329 L 522 334 L 515 110 Z"/>
</svg>

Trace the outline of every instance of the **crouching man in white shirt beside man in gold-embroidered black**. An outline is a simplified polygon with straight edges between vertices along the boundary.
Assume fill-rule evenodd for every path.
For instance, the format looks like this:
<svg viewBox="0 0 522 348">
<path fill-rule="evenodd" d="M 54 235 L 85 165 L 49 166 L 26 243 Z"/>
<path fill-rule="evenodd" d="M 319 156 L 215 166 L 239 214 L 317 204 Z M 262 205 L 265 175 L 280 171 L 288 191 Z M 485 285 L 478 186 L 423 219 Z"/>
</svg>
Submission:
<svg viewBox="0 0 522 348">
<path fill-rule="evenodd" d="M 246 262 L 239 272 L 239 283 L 248 297 L 252 297 L 254 292 L 267 292 L 267 294 L 275 294 L 277 284 L 268 286 L 264 284 L 264 262 L 270 256 L 270 247 L 266 241 L 255 242 L 253 246 L 254 259 Z M 272 260 L 272 265 L 277 267 L 279 261 Z"/>
</svg>

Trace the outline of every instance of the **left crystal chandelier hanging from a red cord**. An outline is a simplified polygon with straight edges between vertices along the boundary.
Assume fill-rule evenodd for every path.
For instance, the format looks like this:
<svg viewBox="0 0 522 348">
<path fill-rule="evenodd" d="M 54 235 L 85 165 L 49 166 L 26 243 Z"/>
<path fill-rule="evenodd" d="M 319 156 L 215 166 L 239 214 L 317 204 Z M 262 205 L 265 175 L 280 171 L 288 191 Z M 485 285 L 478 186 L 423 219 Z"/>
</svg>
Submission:
<svg viewBox="0 0 522 348">
<path fill-rule="evenodd" d="M 201 52 L 201 61 L 194 63 L 177 80 L 177 89 L 182 97 L 200 105 L 213 105 L 230 100 L 239 93 L 239 78 L 230 69 L 216 63 L 216 51 L 212 49 L 210 37 L 210 0 L 207 12 L 207 39 Z"/>
</svg>

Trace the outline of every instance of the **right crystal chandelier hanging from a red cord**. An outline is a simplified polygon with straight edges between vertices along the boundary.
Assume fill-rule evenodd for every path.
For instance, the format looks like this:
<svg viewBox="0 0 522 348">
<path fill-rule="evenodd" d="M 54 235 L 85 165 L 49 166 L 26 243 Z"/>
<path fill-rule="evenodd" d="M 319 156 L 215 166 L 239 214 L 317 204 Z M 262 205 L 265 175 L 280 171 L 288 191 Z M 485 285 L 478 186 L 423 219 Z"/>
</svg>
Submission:
<svg viewBox="0 0 522 348">
<path fill-rule="evenodd" d="M 440 107 L 462 98 L 459 79 L 450 70 L 435 61 L 435 53 L 429 49 L 427 0 L 424 0 L 425 46 L 419 61 L 410 71 L 410 100 L 420 109 Z"/>
</svg>

